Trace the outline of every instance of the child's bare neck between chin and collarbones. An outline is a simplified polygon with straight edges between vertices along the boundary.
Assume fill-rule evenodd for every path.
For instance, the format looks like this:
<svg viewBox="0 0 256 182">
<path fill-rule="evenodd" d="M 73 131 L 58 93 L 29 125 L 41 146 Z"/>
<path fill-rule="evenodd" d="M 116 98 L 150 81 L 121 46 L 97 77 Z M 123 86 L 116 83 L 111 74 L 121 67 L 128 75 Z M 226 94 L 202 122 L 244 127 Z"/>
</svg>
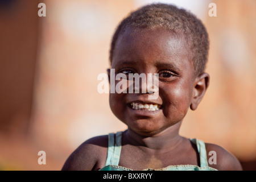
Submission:
<svg viewBox="0 0 256 182">
<path fill-rule="evenodd" d="M 124 133 L 127 143 L 139 146 L 143 150 L 166 151 L 174 149 L 183 140 L 179 135 L 181 122 L 168 127 L 154 135 L 144 135 L 137 133 L 131 129 L 127 129 Z"/>
</svg>

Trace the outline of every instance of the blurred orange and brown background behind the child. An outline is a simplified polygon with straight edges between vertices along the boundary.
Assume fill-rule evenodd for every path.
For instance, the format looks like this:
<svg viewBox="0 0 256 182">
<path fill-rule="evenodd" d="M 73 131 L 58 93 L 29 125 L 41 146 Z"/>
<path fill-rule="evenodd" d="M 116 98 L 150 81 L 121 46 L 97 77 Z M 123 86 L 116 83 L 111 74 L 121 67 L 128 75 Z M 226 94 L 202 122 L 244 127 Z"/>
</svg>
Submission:
<svg viewBox="0 0 256 182">
<path fill-rule="evenodd" d="M 38 4 L 46 4 L 39 17 Z M 0 169 L 60 170 L 84 140 L 126 126 L 97 76 L 118 23 L 146 0 L 0 1 Z M 210 86 L 180 134 L 218 144 L 256 170 L 256 1 L 174 3 L 207 27 Z M 208 15 L 216 3 L 217 16 Z M 38 152 L 46 151 L 46 165 Z"/>
</svg>

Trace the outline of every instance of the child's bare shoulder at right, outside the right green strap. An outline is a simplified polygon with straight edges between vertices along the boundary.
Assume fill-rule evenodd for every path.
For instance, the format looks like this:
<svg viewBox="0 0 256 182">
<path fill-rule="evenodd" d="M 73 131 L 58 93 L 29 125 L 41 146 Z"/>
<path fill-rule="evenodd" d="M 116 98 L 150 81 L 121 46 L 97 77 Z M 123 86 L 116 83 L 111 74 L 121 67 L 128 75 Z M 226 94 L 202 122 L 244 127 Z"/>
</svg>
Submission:
<svg viewBox="0 0 256 182">
<path fill-rule="evenodd" d="M 209 160 L 212 161 L 212 157 L 215 155 L 216 163 L 209 163 L 209 167 L 216 168 L 220 171 L 241 171 L 242 167 L 238 159 L 226 151 L 224 148 L 212 144 L 205 143 L 205 148 L 207 150 L 208 163 Z M 212 158 L 212 159 L 210 159 Z M 214 159 L 213 159 L 214 160 Z"/>
</svg>

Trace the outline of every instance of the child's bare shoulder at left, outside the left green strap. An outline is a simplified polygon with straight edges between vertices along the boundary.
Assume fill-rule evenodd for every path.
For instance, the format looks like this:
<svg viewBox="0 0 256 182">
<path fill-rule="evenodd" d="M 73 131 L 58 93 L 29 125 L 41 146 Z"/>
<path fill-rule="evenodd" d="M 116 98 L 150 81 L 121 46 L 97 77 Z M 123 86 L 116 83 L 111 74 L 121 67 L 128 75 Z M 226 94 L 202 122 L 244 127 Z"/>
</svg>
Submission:
<svg viewBox="0 0 256 182">
<path fill-rule="evenodd" d="M 108 135 L 93 137 L 82 143 L 68 157 L 61 170 L 91 171 L 105 164 L 108 151 Z"/>
</svg>

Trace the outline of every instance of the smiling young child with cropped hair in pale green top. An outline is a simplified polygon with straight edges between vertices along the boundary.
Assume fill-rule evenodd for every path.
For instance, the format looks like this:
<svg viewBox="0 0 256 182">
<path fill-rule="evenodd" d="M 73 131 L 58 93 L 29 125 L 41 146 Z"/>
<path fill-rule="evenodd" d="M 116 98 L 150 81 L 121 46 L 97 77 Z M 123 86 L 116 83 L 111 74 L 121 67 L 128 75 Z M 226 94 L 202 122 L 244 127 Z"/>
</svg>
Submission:
<svg viewBox="0 0 256 182">
<path fill-rule="evenodd" d="M 189 107 L 197 108 L 209 86 L 208 49 L 201 21 L 173 5 L 147 5 L 123 19 L 112 40 L 111 68 L 127 77 L 158 73 L 159 87 L 110 93 L 110 107 L 127 130 L 86 140 L 63 170 L 241 170 L 224 148 L 179 135 Z M 154 92 L 158 98 L 149 100 Z M 216 162 L 208 164 L 210 151 Z"/>
</svg>

